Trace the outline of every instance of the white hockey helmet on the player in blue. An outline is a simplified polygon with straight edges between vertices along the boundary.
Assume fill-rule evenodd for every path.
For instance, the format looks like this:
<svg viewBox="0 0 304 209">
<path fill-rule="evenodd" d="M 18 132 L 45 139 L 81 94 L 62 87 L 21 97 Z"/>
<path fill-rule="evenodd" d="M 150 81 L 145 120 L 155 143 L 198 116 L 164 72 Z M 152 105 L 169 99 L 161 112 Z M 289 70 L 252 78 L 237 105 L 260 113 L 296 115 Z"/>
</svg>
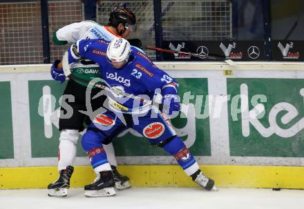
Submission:
<svg viewBox="0 0 304 209">
<path fill-rule="evenodd" d="M 123 38 L 114 38 L 106 49 L 106 58 L 113 68 L 122 68 L 129 60 L 131 45 Z"/>
</svg>

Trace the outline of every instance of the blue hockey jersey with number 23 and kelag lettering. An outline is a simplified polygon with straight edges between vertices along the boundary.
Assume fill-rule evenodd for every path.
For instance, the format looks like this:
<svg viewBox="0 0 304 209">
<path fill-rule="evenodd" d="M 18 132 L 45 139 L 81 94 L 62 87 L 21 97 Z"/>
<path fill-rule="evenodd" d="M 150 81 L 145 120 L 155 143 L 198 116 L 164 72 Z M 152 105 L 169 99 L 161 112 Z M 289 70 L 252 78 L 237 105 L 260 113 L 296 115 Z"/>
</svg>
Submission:
<svg viewBox="0 0 304 209">
<path fill-rule="evenodd" d="M 156 67 L 142 51 L 131 46 L 131 55 L 126 66 L 115 69 L 106 59 L 106 49 L 110 42 L 104 39 L 79 40 L 69 50 L 69 62 L 75 59 L 90 59 L 99 64 L 101 78 L 108 87 L 135 96 L 152 100 L 155 92 L 164 97 L 177 94 L 178 83 L 163 70 Z M 146 112 L 151 103 L 111 94 L 109 106 L 113 110 L 126 113 Z"/>
</svg>

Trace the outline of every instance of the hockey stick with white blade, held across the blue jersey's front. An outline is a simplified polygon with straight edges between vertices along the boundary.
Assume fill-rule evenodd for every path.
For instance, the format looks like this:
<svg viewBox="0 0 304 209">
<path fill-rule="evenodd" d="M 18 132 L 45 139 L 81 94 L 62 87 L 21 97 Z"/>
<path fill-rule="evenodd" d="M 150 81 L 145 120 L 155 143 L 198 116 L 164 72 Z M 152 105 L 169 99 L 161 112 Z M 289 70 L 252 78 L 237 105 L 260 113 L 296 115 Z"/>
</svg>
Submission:
<svg viewBox="0 0 304 209">
<path fill-rule="evenodd" d="M 96 83 L 96 82 L 92 82 L 92 81 L 88 81 L 86 79 L 82 79 L 82 78 L 79 78 L 79 77 L 75 77 L 72 72 L 70 71 L 70 64 L 68 63 L 68 52 L 64 52 L 64 57 L 62 57 L 62 66 L 64 68 L 64 75 L 66 77 L 68 77 L 69 79 L 73 79 L 73 80 L 76 80 L 76 81 L 81 81 L 83 83 L 88 83 L 89 85 L 91 85 L 92 87 L 95 86 L 97 88 L 100 88 L 100 89 L 103 89 L 103 90 L 106 90 L 108 92 L 111 92 L 112 94 L 117 94 L 118 96 L 124 96 L 124 97 L 129 97 L 131 99 L 136 99 L 136 100 L 139 100 L 139 101 L 142 101 L 144 103 L 152 103 L 151 100 L 148 100 L 148 99 L 144 99 L 142 97 L 137 97 L 133 94 L 128 94 L 126 92 L 122 92 L 121 90 L 117 90 L 117 89 L 111 89 L 111 88 L 108 88 L 108 86 L 104 86 L 104 85 L 101 85 L 99 83 Z"/>
</svg>

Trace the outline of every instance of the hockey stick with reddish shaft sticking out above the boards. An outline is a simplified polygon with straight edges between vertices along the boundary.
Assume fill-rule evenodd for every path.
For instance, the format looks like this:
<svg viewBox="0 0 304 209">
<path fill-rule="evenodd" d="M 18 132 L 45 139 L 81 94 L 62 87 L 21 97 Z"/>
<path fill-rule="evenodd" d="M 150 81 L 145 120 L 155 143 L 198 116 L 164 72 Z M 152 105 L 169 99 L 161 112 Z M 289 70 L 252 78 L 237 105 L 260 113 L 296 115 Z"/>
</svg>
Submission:
<svg viewBox="0 0 304 209">
<path fill-rule="evenodd" d="M 146 48 L 149 49 L 149 50 L 156 50 L 156 51 L 159 51 L 159 52 L 166 52 L 166 53 L 170 53 L 170 54 L 184 54 L 184 55 L 189 55 L 191 57 L 215 59 L 215 60 L 219 60 L 219 61 L 225 61 L 230 66 L 234 66 L 235 65 L 234 61 L 232 61 L 231 59 L 225 59 L 225 57 L 220 57 L 220 56 L 216 56 L 216 55 L 209 56 L 209 55 L 206 55 L 206 54 L 196 54 L 196 53 L 192 53 L 192 52 L 165 50 L 163 48 L 158 48 L 158 47 L 155 47 L 155 46 L 146 46 Z"/>
</svg>

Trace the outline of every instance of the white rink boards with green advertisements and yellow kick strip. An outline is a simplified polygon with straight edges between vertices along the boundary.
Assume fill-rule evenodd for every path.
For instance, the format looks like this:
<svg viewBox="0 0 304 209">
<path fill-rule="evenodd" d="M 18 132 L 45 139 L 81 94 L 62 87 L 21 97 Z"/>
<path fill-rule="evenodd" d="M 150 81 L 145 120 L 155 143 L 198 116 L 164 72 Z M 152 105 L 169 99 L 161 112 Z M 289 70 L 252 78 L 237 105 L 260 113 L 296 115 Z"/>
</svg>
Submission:
<svg viewBox="0 0 304 209">
<path fill-rule="evenodd" d="M 173 126 L 218 186 L 304 188 L 303 64 L 157 65 L 180 83 L 182 114 Z M 0 67 L 0 188 L 43 188 L 57 178 L 57 110 L 65 84 L 53 81 L 49 68 Z M 114 143 L 125 165 L 120 170 L 134 186 L 194 186 L 173 157 L 138 133 L 124 132 Z M 72 186 L 83 186 L 93 172 L 80 143 L 77 156 Z M 17 183 L 22 178 L 32 183 Z"/>
</svg>

